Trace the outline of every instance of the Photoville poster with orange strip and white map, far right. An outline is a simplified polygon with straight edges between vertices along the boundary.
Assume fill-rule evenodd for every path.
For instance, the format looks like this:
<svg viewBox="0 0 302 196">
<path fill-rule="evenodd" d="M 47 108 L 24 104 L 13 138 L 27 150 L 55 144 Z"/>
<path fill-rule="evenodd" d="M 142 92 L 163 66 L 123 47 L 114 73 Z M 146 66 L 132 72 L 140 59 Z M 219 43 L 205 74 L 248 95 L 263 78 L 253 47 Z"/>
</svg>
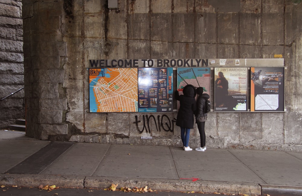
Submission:
<svg viewBox="0 0 302 196">
<path fill-rule="evenodd" d="M 251 67 L 251 111 L 284 111 L 284 67 Z"/>
</svg>

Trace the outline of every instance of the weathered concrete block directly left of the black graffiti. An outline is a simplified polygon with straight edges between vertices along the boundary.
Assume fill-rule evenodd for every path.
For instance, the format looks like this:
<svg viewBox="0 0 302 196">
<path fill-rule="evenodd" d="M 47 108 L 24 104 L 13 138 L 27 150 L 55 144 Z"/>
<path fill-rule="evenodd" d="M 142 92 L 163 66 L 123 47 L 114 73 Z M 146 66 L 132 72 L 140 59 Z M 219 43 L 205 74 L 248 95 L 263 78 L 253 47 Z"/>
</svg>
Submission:
<svg viewBox="0 0 302 196">
<path fill-rule="evenodd" d="M 129 136 L 129 115 L 119 113 L 108 113 L 107 132 Z"/>
</svg>

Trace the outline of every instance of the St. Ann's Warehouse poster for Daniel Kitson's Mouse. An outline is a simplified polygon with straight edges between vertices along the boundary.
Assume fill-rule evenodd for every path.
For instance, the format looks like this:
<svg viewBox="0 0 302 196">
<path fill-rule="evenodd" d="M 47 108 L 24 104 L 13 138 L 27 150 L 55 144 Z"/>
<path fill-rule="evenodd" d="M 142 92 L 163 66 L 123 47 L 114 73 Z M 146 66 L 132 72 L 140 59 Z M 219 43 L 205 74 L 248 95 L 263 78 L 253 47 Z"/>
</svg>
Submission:
<svg viewBox="0 0 302 196">
<path fill-rule="evenodd" d="M 214 111 L 247 111 L 247 67 L 215 67 L 214 69 Z"/>
</svg>

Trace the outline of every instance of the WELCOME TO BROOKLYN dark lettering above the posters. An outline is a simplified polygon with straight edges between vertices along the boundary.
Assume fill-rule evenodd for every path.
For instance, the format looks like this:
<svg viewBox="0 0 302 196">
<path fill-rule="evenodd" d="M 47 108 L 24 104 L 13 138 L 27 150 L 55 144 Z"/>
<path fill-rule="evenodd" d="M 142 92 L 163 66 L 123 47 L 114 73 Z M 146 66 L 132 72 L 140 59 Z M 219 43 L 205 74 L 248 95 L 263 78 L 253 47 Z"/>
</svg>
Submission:
<svg viewBox="0 0 302 196">
<path fill-rule="evenodd" d="M 208 67 L 208 59 L 92 59 L 89 67 Z"/>
</svg>

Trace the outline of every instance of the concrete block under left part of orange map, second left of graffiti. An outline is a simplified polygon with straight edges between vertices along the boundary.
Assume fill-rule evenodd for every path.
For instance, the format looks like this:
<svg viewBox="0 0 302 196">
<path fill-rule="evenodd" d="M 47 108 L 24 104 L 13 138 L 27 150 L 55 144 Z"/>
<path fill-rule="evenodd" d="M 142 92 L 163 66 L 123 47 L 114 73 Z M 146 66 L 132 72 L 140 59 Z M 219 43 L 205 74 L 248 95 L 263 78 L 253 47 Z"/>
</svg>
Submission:
<svg viewBox="0 0 302 196">
<path fill-rule="evenodd" d="M 107 131 L 107 114 L 85 113 L 85 133 L 101 133 Z"/>
</svg>

